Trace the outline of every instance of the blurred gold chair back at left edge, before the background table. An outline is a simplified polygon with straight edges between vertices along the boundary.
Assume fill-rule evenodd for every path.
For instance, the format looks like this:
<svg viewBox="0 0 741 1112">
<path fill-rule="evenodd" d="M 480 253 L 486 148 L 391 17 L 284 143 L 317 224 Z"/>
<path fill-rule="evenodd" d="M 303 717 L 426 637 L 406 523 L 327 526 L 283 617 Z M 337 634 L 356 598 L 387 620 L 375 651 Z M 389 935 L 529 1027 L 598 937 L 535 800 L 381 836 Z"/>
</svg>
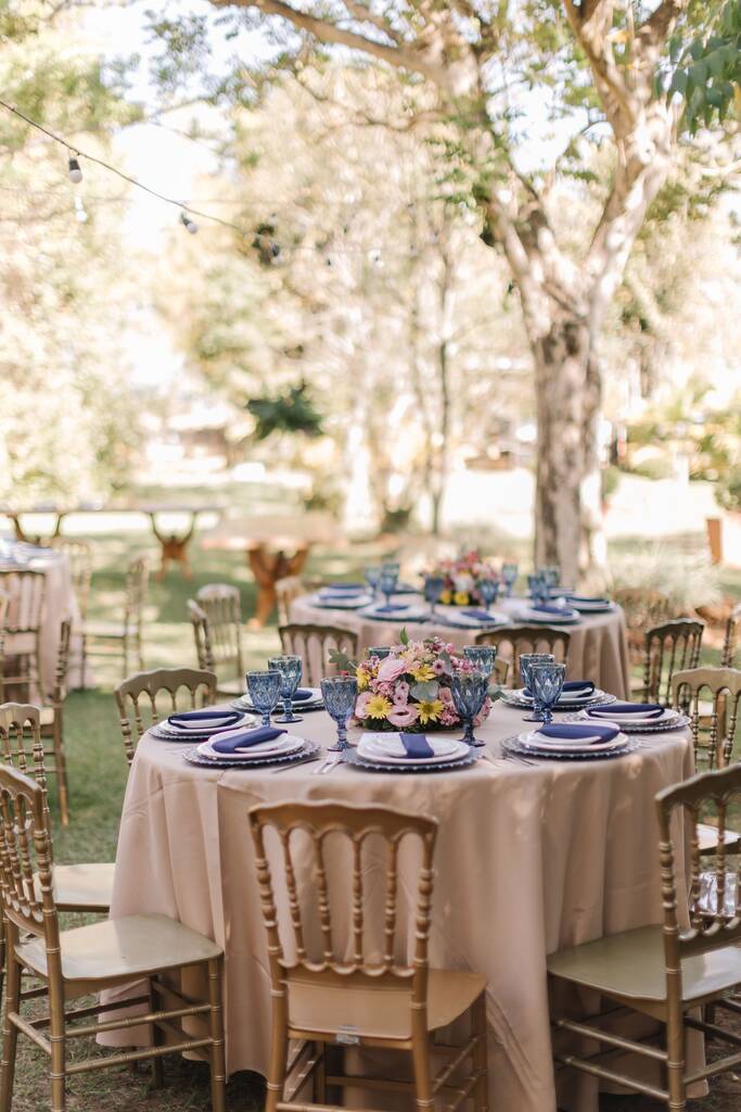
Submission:
<svg viewBox="0 0 741 1112">
<path fill-rule="evenodd" d="M 41 623 L 47 595 L 47 576 L 30 569 L 0 572 L 0 590 L 8 596 L 4 618 L 4 666 L 2 691 L 30 699 L 46 692 L 42 672 Z M 11 663 L 12 662 L 12 663 Z"/>
</svg>

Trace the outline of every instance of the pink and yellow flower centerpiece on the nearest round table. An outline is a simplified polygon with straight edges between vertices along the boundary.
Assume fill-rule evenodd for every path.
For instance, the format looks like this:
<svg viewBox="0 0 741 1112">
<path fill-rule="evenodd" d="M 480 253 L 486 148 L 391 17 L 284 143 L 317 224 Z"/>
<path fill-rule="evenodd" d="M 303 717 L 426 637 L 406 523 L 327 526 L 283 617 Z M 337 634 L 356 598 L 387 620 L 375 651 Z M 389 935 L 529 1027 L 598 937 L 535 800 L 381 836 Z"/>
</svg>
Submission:
<svg viewBox="0 0 741 1112">
<path fill-rule="evenodd" d="M 350 665 L 347 659 L 338 663 Z M 455 673 L 475 672 L 470 661 L 454 655 L 453 645 L 439 637 L 410 641 L 405 631 L 383 659 L 370 656 L 351 667 L 358 678 L 354 722 L 367 729 L 405 733 L 460 725 L 450 679 Z M 489 716 L 495 697 L 487 697 L 474 725 Z"/>
</svg>

